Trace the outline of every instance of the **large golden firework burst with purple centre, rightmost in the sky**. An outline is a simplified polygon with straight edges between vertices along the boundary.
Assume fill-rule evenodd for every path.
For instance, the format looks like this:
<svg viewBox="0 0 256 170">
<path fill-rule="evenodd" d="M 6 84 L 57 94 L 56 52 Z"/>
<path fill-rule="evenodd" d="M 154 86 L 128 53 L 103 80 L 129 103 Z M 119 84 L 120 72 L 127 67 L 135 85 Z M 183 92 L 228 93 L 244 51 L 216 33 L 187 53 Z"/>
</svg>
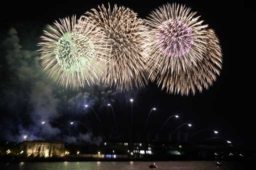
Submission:
<svg viewBox="0 0 256 170">
<path fill-rule="evenodd" d="M 155 9 L 145 20 L 148 30 L 143 55 L 151 70 L 150 79 L 167 93 L 202 92 L 220 74 L 218 38 L 195 14 L 173 3 Z"/>
</svg>

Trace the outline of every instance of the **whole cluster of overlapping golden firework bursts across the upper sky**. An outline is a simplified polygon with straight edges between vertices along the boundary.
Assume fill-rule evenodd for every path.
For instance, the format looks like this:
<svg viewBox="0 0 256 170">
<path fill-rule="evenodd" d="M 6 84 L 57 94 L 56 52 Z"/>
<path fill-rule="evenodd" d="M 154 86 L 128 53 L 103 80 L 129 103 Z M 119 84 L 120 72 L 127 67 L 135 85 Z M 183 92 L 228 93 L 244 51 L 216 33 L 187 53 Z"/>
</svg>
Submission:
<svg viewBox="0 0 256 170">
<path fill-rule="evenodd" d="M 77 22 L 60 19 L 41 36 L 42 67 L 53 82 L 73 89 L 99 81 L 129 91 L 149 79 L 167 93 L 202 92 L 220 74 L 222 54 L 214 31 L 195 14 L 168 3 L 143 20 L 108 4 Z"/>
</svg>

